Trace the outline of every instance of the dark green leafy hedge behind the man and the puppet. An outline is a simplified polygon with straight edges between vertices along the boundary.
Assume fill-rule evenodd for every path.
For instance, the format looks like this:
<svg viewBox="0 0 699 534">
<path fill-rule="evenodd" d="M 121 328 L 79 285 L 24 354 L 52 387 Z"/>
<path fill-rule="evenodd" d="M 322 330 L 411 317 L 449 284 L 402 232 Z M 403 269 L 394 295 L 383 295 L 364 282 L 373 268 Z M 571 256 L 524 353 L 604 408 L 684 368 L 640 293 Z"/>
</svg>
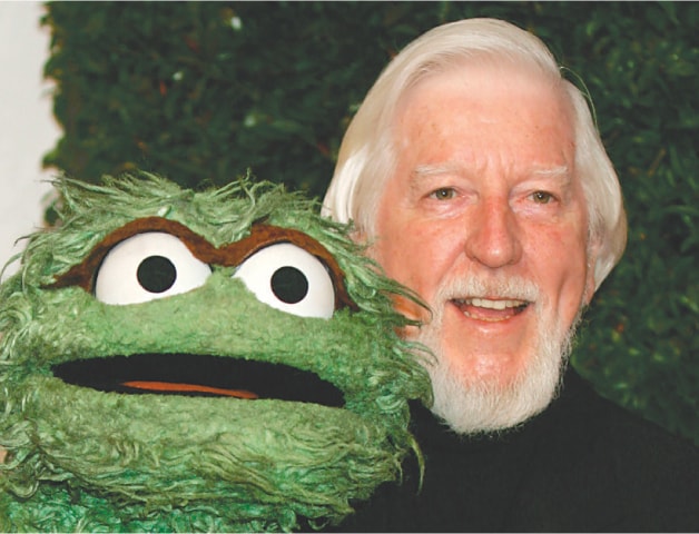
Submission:
<svg viewBox="0 0 699 534">
<path fill-rule="evenodd" d="M 484 16 L 532 30 L 584 80 L 624 189 L 629 246 L 575 367 L 699 444 L 699 3 L 52 2 L 46 75 L 65 135 L 46 166 L 190 187 L 250 167 L 322 196 L 388 59 L 433 26 Z"/>
</svg>

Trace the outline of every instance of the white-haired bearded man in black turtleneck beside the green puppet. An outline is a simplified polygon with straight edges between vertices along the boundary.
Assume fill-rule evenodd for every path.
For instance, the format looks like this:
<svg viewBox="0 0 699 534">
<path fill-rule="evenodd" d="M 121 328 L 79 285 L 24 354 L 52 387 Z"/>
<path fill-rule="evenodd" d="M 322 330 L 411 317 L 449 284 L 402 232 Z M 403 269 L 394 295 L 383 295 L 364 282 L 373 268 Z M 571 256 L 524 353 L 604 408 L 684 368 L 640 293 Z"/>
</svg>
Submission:
<svg viewBox="0 0 699 534">
<path fill-rule="evenodd" d="M 347 528 L 699 528 L 697 449 L 567 368 L 627 228 L 585 99 L 539 39 L 470 19 L 406 47 L 353 119 L 324 209 L 424 300 L 396 306 L 434 354 L 434 405 L 414 411 L 424 481 L 406 467 Z"/>
</svg>

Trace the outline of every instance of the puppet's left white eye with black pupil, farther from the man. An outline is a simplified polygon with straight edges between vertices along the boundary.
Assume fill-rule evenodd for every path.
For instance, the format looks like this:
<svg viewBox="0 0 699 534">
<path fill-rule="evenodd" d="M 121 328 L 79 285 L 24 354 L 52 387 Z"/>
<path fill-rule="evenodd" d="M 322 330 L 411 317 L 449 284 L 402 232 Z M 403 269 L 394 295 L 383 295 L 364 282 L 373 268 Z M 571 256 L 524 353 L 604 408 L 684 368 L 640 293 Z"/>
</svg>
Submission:
<svg viewBox="0 0 699 534">
<path fill-rule="evenodd" d="M 210 267 L 177 237 L 160 231 L 137 234 L 105 256 L 95 296 L 106 304 L 145 303 L 199 287 L 210 274 Z"/>
</svg>

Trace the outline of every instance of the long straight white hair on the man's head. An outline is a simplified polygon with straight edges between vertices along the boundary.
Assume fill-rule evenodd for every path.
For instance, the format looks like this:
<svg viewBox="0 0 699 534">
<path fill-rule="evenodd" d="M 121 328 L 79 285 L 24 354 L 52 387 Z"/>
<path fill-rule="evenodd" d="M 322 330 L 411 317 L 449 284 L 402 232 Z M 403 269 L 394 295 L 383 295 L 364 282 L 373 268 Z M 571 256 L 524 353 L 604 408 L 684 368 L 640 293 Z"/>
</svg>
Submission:
<svg viewBox="0 0 699 534">
<path fill-rule="evenodd" d="M 339 148 L 323 214 L 374 236 L 375 216 L 397 154 L 393 128 L 405 92 L 419 81 L 469 61 L 514 62 L 553 80 L 572 109 L 575 167 L 584 191 L 589 237 L 599 246 L 597 287 L 621 258 L 627 220 L 621 187 L 585 97 L 561 75 L 555 59 L 533 34 L 496 19 L 465 19 L 440 26 L 414 40 L 381 73 L 347 129 Z M 595 288 L 597 288 L 595 287 Z"/>
</svg>

